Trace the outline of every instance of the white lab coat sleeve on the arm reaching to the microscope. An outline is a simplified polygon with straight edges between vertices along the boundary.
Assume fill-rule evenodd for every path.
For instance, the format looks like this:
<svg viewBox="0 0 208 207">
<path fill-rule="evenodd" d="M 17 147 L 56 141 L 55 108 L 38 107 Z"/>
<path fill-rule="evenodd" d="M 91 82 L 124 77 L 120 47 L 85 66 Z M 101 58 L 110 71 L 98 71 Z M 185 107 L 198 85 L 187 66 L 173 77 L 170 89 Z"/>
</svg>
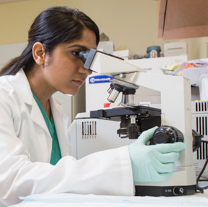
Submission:
<svg viewBox="0 0 208 207">
<path fill-rule="evenodd" d="M 55 166 L 31 162 L 16 136 L 19 129 L 14 127 L 10 107 L 0 103 L 0 199 L 4 204 L 20 202 L 19 196 L 42 193 L 134 194 L 127 146 L 81 160 L 66 156 Z"/>
</svg>

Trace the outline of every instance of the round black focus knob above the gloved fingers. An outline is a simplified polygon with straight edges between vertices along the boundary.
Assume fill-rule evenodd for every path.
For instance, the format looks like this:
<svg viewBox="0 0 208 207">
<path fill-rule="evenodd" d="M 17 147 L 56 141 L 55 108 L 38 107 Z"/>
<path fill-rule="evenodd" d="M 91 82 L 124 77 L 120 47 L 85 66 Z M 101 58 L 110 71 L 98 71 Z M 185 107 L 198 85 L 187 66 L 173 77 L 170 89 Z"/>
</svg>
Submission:
<svg viewBox="0 0 208 207">
<path fill-rule="evenodd" d="M 150 145 L 162 143 L 183 142 L 183 134 L 172 126 L 161 126 L 153 134 L 150 139 Z"/>
</svg>

